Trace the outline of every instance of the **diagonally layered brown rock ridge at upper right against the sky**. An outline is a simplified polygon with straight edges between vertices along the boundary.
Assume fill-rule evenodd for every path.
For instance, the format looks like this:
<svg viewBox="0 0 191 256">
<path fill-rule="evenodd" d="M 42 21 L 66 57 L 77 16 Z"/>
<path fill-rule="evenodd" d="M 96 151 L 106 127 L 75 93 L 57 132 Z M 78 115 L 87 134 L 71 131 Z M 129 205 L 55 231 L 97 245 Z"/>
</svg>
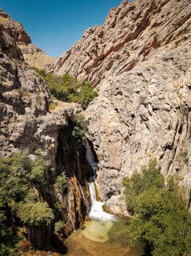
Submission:
<svg viewBox="0 0 191 256">
<path fill-rule="evenodd" d="M 112 8 L 103 26 L 88 28 L 70 50 L 48 70 L 69 73 L 93 86 L 146 61 L 155 49 L 167 45 L 190 24 L 189 0 L 123 1 Z"/>
</svg>

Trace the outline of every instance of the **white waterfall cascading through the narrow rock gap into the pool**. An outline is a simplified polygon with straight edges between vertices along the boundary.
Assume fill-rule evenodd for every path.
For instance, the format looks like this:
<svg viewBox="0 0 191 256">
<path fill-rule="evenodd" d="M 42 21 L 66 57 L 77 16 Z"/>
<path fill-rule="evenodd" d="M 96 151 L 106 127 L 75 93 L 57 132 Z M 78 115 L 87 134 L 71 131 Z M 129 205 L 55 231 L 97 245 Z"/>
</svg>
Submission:
<svg viewBox="0 0 191 256">
<path fill-rule="evenodd" d="M 89 216 L 91 218 L 97 218 L 100 220 L 113 220 L 115 219 L 115 216 L 112 214 L 106 213 L 103 211 L 102 202 L 96 201 L 96 195 L 95 195 L 95 186 L 94 186 L 94 178 L 97 171 L 97 162 L 95 162 L 94 155 L 92 153 L 90 145 L 86 144 L 86 159 L 89 165 L 93 168 L 93 175 L 89 178 L 89 192 L 91 195 L 91 210 L 89 211 Z"/>
</svg>

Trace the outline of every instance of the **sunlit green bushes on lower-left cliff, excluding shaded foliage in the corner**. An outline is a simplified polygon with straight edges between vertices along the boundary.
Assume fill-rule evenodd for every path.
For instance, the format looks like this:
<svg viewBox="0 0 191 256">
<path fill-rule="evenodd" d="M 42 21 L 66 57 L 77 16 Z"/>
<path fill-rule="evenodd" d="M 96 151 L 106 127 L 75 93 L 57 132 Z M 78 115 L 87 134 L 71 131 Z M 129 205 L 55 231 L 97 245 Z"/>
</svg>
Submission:
<svg viewBox="0 0 191 256">
<path fill-rule="evenodd" d="M 52 209 L 48 208 L 46 203 L 36 202 L 37 197 L 33 187 L 41 188 L 45 185 L 46 162 L 40 154 L 40 150 L 35 150 L 35 154 L 36 159 L 34 161 L 28 158 L 28 151 L 26 150 L 16 152 L 9 158 L 0 157 L 0 187 L 1 198 L 6 210 L 24 222 L 28 220 L 30 225 L 37 226 L 38 221 L 39 225 L 42 225 L 49 223 L 48 217 L 52 220 Z M 39 215 L 34 217 L 33 215 L 37 213 Z M 44 218 L 40 220 L 40 216 L 43 214 Z M 29 221 L 28 215 L 31 215 L 31 218 L 36 218 L 36 222 Z"/>
</svg>

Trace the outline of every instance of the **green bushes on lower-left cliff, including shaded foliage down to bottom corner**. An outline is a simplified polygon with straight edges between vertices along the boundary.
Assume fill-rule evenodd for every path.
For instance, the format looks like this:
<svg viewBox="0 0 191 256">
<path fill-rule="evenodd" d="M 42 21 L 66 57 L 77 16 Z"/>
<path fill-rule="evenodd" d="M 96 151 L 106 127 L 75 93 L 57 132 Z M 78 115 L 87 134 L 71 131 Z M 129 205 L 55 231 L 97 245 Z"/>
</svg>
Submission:
<svg viewBox="0 0 191 256">
<path fill-rule="evenodd" d="M 47 202 L 38 201 L 37 190 L 47 187 L 46 162 L 39 150 L 30 160 L 28 151 L 0 157 L 0 255 L 19 255 L 18 220 L 29 226 L 44 226 L 54 218 Z"/>
</svg>

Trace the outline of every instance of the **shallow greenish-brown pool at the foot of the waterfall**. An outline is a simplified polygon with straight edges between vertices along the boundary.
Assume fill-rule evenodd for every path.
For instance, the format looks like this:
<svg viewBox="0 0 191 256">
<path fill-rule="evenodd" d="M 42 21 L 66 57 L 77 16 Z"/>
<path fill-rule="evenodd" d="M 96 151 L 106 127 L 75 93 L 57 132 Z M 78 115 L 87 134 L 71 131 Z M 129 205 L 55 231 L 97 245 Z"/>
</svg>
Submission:
<svg viewBox="0 0 191 256">
<path fill-rule="evenodd" d="M 127 220 L 89 220 L 65 241 L 67 256 L 142 256 L 140 245 L 125 242 Z"/>
</svg>

